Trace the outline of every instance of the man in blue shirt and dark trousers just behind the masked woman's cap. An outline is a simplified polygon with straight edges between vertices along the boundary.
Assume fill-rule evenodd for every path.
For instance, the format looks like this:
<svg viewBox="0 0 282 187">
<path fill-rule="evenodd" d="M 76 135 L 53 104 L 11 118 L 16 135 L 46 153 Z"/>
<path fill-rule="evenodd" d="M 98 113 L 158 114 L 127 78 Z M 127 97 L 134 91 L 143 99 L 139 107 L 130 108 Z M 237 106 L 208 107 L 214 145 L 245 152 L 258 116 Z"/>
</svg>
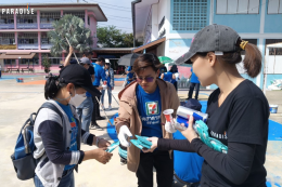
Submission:
<svg viewBox="0 0 282 187">
<path fill-rule="evenodd" d="M 95 63 L 92 63 L 94 69 L 95 69 L 95 80 L 93 82 L 93 85 L 95 88 L 99 88 L 100 86 L 100 83 L 101 83 L 101 80 L 102 81 L 106 81 L 105 79 L 105 70 L 103 68 L 103 66 L 105 65 L 105 58 L 104 57 L 99 57 L 97 59 Z M 97 97 L 99 101 L 100 101 L 100 96 Z M 92 112 L 92 119 L 95 119 L 95 120 L 104 120 L 105 118 L 104 117 L 101 117 L 100 115 L 100 104 L 98 103 L 97 98 L 93 97 L 93 103 L 94 103 L 94 109 L 93 109 L 93 112 Z M 92 126 L 94 129 L 99 129 L 99 130 L 102 130 L 102 128 L 100 125 L 98 125 L 97 123 L 94 124 L 93 121 L 92 121 Z"/>
</svg>

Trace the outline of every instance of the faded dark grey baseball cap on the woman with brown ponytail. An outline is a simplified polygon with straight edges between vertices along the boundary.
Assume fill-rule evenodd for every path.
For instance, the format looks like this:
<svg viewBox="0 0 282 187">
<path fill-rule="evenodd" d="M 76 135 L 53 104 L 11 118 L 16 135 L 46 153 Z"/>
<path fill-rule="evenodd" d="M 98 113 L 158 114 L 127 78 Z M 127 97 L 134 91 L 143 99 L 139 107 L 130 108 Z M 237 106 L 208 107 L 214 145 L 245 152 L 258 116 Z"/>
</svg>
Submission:
<svg viewBox="0 0 282 187">
<path fill-rule="evenodd" d="M 176 61 L 177 65 L 187 63 L 191 64 L 190 58 L 196 53 L 216 52 L 222 54 L 225 52 L 235 52 L 239 50 L 236 45 L 239 34 L 231 27 L 225 25 L 208 25 L 200 30 L 189 49 L 189 52 Z"/>
</svg>

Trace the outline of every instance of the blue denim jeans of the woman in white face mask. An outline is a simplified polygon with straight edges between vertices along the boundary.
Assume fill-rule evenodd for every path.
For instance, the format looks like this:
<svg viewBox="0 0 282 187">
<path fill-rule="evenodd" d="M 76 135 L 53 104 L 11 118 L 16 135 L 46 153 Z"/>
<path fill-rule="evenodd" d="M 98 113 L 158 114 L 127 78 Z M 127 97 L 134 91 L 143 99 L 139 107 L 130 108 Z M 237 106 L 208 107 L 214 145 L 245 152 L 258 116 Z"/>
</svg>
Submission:
<svg viewBox="0 0 282 187">
<path fill-rule="evenodd" d="M 34 177 L 35 187 L 44 187 L 37 175 Z M 57 187 L 75 187 L 74 171 L 62 177 Z"/>
</svg>

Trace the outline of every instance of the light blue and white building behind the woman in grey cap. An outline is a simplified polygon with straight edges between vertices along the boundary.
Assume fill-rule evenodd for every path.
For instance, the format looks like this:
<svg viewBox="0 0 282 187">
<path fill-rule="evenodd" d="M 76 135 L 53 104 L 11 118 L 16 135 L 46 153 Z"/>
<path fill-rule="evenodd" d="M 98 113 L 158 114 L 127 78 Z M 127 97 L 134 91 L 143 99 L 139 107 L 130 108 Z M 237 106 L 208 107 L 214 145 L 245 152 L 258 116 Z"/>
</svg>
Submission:
<svg viewBox="0 0 282 187">
<path fill-rule="evenodd" d="M 133 50 L 136 53 L 177 59 L 189 51 L 200 29 L 210 24 L 227 25 L 262 54 L 264 66 L 255 79 L 247 77 L 242 63 L 238 65 L 244 78 L 261 89 L 264 72 L 266 86 L 282 79 L 282 0 L 136 0 L 131 6 L 133 35 L 143 42 Z"/>
</svg>

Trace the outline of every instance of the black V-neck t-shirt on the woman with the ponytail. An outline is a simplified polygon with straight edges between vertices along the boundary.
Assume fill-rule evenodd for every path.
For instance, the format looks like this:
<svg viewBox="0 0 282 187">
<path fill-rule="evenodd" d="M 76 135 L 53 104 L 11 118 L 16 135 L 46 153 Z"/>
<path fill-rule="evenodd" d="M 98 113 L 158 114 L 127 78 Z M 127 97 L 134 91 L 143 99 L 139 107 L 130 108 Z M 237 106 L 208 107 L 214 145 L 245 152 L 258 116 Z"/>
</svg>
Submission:
<svg viewBox="0 0 282 187">
<path fill-rule="evenodd" d="M 215 90 L 207 103 L 209 136 L 225 145 L 228 143 L 255 145 L 254 160 L 248 177 L 241 185 L 232 184 L 206 161 L 202 168 L 202 181 L 208 186 L 265 186 L 267 172 L 264 163 L 268 141 L 268 101 L 261 90 L 249 80 L 241 82 L 220 107 L 218 107 L 219 93 L 219 89 Z M 235 175 L 236 171 L 233 172 Z"/>
</svg>

